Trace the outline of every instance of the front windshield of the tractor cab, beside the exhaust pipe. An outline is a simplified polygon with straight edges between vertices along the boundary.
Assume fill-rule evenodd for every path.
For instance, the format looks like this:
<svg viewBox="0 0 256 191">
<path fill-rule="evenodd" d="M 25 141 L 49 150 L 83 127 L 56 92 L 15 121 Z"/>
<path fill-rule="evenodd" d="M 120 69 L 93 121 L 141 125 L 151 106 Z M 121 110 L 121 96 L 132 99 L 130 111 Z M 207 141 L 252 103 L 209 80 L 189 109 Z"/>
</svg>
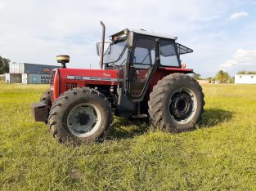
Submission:
<svg viewBox="0 0 256 191">
<path fill-rule="evenodd" d="M 103 64 L 123 64 L 127 57 L 128 48 L 126 41 L 110 44 L 103 58 Z"/>
</svg>

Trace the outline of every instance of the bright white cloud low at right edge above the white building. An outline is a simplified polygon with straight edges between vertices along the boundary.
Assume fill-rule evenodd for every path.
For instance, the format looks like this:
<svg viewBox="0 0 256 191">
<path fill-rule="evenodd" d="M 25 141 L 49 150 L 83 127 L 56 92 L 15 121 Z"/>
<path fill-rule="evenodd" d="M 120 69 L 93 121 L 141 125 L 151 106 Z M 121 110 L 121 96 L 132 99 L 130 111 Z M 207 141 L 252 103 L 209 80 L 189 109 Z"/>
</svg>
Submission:
<svg viewBox="0 0 256 191">
<path fill-rule="evenodd" d="M 222 68 L 231 68 L 233 66 L 256 66 L 256 50 L 238 49 L 233 58 L 221 64 Z"/>
</svg>

